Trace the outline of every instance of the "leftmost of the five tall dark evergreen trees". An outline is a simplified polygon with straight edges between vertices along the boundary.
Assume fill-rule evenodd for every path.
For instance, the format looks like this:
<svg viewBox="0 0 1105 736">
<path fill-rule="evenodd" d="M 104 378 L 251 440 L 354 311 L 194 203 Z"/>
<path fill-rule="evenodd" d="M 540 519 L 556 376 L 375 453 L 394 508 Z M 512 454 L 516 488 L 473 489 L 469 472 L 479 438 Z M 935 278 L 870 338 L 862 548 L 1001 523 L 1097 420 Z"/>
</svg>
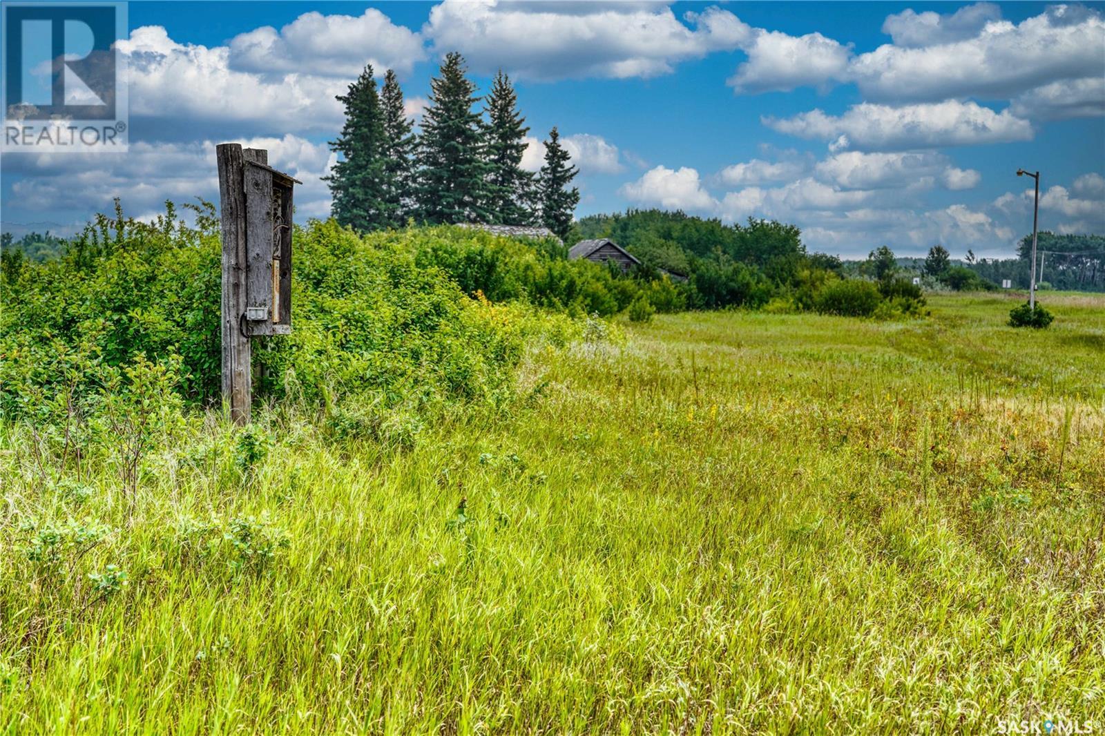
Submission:
<svg viewBox="0 0 1105 736">
<path fill-rule="evenodd" d="M 330 212 L 356 230 L 386 228 L 383 114 L 371 64 L 349 85 L 348 94 L 337 99 L 345 105 L 346 122 L 338 139 L 330 141 L 330 149 L 341 154 L 341 160 L 324 177 L 334 196 Z"/>
</svg>

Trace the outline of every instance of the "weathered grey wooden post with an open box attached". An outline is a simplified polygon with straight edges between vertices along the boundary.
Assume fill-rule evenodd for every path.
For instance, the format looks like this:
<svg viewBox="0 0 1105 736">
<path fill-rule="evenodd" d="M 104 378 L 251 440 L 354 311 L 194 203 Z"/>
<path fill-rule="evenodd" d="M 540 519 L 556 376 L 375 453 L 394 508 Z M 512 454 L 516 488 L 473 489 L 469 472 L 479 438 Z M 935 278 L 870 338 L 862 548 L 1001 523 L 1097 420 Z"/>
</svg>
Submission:
<svg viewBox="0 0 1105 736">
<path fill-rule="evenodd" d="M 231 419 L 250 421 L 250 338 L 292 332 L 292 188 L 269 151 L 215 147 L 222 214 L 222 397 Z"/>
</svg>

